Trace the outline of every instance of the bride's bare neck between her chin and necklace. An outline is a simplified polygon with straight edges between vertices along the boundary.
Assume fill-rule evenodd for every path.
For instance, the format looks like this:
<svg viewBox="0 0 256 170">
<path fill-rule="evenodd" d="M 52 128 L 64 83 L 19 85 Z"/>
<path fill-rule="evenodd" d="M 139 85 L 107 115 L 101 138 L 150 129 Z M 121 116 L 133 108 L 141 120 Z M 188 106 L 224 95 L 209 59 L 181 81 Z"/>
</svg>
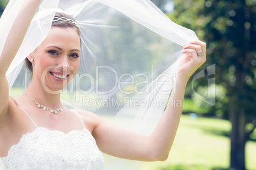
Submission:
<svg viewBox="0 0 256 170">
<path fill-rule="evenodd" d="M 52 109 L 59 109 L 61 106 L 60 102 L 60 91 L 55 91 L 55 94 L 48 93 L 41 86 L 41 83 L 36 82 L 35 80 L 31 80 L 29 87 L 26 89 L 25 93 L 31 98 L 44 105 L 45 107 Z"/>
</svg>

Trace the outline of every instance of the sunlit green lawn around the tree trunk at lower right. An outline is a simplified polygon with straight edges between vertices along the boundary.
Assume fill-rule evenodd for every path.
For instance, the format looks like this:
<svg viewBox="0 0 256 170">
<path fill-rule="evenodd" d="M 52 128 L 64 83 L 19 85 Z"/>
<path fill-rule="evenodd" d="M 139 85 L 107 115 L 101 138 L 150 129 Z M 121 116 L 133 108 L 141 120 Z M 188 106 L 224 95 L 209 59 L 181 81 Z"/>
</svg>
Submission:
<svg viewBox="0 0 256 170">
<path fill-rule="evenodd" d="M 145 162 L 141 170 L 217 170 L 229 167 L 229 121 L 182 115 L 180 127 L 164 162 Z M 256 142 L 246 143 L 246 167 L 256 169 Z"/>
</svg>

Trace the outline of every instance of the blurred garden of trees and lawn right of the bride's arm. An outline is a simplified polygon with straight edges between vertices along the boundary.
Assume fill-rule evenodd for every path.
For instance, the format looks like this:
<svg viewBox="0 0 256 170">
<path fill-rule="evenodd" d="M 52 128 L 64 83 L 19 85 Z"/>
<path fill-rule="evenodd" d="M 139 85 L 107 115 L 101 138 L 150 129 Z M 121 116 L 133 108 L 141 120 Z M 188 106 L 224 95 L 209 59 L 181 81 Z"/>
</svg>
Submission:
<svg viewBox="0 0 256 170">
<path fill-rule="evenodd" d="M 256 0 L 152 2 L 208 49 L 188 83 L 169 158 L 141 169 L 256 169 Z M 0 0 L 0 15 L 7 3 Z"/>
</svg>

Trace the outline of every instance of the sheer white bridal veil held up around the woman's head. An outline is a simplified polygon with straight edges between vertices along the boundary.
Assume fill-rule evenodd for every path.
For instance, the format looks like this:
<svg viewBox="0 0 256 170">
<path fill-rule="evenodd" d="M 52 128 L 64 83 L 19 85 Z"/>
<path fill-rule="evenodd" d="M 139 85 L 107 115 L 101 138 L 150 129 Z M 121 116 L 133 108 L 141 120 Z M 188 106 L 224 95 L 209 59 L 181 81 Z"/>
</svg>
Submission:
<svg viewBox="0 0 256 170">
<path fill-rule="evenodd" d="M 10 0 L 1 16 L 0 53 L 23 2 Z M 6 73 L 10 90 L 29 83 L 24 59 L 47 36 L 56 11 L 73 16 L 82 29 L 80 69 L 61 91 L 62 101 L 150 135 L 173 88 L 181 44 L 196 41 L 196 34 L 148 0 L 42 0 Z M 106 155 L 105 164 L 105 169 L 139 169 L 141 162 Z"/>
</svg>

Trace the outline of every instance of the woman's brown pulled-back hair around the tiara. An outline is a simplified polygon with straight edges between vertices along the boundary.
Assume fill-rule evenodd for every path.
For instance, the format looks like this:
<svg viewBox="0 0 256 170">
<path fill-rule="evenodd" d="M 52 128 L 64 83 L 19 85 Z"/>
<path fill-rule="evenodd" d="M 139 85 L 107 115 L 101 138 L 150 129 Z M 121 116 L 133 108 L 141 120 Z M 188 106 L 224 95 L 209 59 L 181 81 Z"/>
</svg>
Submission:
<svg viewBox="0 0 256 170">
<path fill-rule="evenodd" d="M 64 18 L 66 18 L 68 20 L 73 20 L 73 22 L 76 22 L 76 20 L 72 16 L 67 15 L 65 13 L 57 12 L 57 13 L 55 13 L 54 17 L 58 17 L 58 18 L 64 17 Z M 54 21 L 54 22 L 52 22 L 52 27 L 76 28 L 78 30 L 79 36 L 81 34 L 80 29 L 78 28 L 78 26 L 75 25 L 75 23 L 72 23 L 72 22 L 69 22 L 69 21 L 63 21 L 63 20 Z M 25 58 L 25 66 L 27 67 L 27 69 L 29 69 L 31 72 L 33 72 L 32 63 L 27 58 Z"/>
</svg>

